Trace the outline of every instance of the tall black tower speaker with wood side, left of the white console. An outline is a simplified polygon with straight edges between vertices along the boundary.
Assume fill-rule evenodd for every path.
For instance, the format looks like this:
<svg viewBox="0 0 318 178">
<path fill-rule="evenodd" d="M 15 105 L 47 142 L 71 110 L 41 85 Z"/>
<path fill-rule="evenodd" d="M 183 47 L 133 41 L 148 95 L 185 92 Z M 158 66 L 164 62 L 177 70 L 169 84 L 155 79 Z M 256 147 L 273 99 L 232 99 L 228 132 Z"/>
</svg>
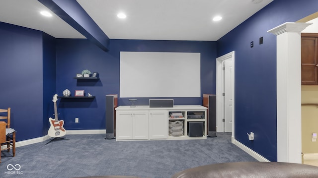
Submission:
<svg viewBox="0 0 318 178">
<path fill-rule="evenodd" d="M 105 139 L 114 139 L 116 136 L 115 108 L 117 106 L 118 106 L 117 94 L 106 95 L 106 137 Z"/>
</svg>

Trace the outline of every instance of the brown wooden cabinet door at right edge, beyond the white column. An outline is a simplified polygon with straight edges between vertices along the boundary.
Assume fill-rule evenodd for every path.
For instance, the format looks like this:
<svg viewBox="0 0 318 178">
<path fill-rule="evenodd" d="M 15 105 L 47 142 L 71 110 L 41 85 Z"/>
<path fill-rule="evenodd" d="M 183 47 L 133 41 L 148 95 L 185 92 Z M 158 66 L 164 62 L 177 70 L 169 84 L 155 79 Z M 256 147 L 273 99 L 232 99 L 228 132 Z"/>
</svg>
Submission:
<svg viewBox="0 0 318 178">
<path fill-rule="evenodd" d="M 318 38 L 302 37 L 302 84 L 318 84 Z"/>
</svg>

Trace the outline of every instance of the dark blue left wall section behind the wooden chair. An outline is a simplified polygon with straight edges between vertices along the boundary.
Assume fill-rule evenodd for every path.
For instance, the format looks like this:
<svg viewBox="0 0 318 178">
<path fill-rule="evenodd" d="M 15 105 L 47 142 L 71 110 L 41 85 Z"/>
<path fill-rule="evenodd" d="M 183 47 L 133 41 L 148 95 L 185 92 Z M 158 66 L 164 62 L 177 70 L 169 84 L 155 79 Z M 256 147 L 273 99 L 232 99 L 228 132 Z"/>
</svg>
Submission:
<svg viewBox="0 0 318 178">
<path fill-rule="evenodd" d="M 17 141 L 43 136 L 42 32 L 0 22 L 0 39 L 0 108 Z"/>
</svg>

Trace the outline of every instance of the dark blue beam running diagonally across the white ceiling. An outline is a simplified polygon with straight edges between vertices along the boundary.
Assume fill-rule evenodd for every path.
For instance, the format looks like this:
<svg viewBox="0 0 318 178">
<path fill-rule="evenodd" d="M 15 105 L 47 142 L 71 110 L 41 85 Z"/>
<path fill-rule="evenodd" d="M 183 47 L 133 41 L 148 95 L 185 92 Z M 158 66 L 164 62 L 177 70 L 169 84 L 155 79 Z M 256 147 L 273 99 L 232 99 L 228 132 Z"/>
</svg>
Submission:
<svg viewBox="0 0 318 178">
<path fill-rule="evenodd" d="M 38 0 L 89 41 L 108 51 L 109 38 L 76 0 Z"/>
</svg>

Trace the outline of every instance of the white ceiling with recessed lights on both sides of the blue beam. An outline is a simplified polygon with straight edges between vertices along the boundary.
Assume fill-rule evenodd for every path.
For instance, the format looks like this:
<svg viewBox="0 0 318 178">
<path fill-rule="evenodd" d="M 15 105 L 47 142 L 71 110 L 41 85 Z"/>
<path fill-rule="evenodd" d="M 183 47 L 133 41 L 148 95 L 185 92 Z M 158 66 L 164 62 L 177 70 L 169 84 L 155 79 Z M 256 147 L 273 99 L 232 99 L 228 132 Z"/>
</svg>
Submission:
<svg viewBox="0 0 318 178">
<path fill-rule="evenodd" d="M 77 0 L 110 39 L 216 41 L 273 0 Z M 0 21 L 85 38 L 38 0 L 0 0 Z M 126 19 L 117 18 L 125 12 Z M 218 22 L 215 15 L 223 16 Z"/>
</svg>

